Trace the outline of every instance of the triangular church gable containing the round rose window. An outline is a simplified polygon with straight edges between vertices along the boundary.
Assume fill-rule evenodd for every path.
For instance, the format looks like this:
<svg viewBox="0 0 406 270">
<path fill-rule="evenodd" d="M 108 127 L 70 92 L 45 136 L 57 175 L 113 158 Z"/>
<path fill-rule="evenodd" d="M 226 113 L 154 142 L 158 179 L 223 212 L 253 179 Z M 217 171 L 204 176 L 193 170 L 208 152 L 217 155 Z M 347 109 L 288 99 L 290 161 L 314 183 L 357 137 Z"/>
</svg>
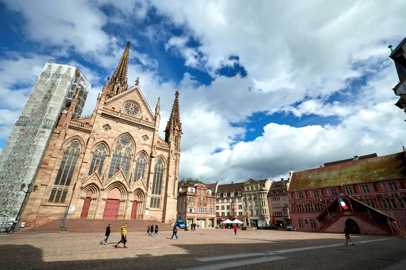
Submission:
<svg viewBox="0 0 406 270">
<path fill-rule="evenodd" d="M 153 122 L 154 115 L 137 86 L 106 100 L 105 108 Z"/>
</svg>

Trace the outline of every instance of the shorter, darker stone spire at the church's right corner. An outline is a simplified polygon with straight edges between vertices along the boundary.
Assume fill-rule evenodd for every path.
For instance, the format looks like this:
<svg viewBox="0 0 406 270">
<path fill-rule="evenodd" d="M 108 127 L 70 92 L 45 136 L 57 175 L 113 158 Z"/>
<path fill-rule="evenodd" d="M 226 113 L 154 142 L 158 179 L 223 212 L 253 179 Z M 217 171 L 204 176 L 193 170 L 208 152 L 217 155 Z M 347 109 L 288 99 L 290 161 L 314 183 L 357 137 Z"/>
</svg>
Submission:
<svg viewBox="0 0 406 270">
<path fill-rule="evenodd" d="M 174 105 L 172 106 L 171 117 L 168 123 L 166 124 L 165 129 L 166 143 L 170 143 L 172 140 L 174 140 L 176 148 L 179 149 L 181 134 L 182 134 L 182 123 L 179 113 L 179 92 L 177 90 L 175 93 Z"/>
</svg>

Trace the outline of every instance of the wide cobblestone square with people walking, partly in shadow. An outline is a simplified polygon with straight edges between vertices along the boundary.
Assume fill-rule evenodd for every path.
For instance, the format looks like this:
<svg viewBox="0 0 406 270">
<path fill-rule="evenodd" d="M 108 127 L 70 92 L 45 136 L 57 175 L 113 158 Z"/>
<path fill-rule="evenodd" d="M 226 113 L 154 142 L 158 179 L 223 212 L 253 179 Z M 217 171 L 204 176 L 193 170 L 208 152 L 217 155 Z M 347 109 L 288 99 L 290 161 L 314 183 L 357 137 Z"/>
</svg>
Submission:
<svg viewBox="0 0 406 270">
<path fill-rule="evenodd" d="M 161 231 L 158 237 L 128 233 L 128 249 L 115 249 L 112 233 L 10 234 L 0 237 L 2 268 L 8 269 L 381 269 L 406 259 L 406 239 L 276 230 L 196 229 Z M 399 265 L 399 264 L 398 264 Z M 404 265 L 404 264 L 402 264 Z M 399 268 L 400 269 L 400 268 Z"/>
</svg>

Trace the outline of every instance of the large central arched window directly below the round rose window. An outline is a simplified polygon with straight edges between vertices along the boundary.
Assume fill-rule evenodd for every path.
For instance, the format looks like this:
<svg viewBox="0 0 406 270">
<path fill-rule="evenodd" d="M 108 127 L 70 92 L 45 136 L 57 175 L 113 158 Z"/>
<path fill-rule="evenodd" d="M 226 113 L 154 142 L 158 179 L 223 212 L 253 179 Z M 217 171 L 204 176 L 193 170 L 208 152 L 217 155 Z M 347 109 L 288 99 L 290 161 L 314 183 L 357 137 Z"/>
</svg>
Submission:
<svg viewBox="0 0 406 270">
<path fill-rule="evenodd" d="M 132 143 L 128 136 L 122 136 L 116 143 L 111 160 L 109 178 L 116 172 L 123 170 L 124 175 L 128 176 L 128 170 L 131 162 Z"/>
</svg>

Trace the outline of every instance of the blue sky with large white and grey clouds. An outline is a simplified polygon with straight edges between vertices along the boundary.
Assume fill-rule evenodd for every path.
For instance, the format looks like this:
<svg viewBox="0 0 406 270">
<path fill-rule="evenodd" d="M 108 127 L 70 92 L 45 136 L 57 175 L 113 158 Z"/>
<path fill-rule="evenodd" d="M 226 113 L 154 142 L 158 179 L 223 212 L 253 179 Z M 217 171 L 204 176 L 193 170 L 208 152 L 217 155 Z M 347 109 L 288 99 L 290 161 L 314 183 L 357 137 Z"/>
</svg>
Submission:
<svg viewBox="0 0 406 270">
<path fill-rule="evenodd" d="M 160 134 L 176 90 L 179 179 L 287 178 L 323 163 L 402 150 L 406 115 L 388 45 L 405 1 L 0 0 L 0 148 L 47 59 L 92 84 L 83 116 L 131 41 L 128 84 Z"/>
</svg>

